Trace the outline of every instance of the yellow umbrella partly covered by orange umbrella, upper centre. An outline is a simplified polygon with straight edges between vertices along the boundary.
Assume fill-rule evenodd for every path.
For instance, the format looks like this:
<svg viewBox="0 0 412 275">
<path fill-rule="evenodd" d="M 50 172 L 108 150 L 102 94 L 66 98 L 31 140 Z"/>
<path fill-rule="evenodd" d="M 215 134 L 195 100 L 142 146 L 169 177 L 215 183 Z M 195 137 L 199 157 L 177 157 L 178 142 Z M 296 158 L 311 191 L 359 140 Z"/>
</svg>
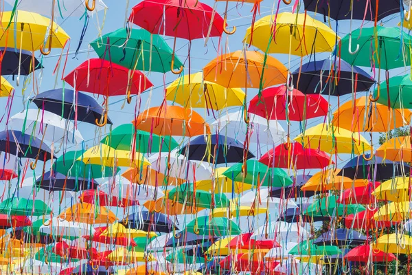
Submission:
<svg viewBox="0 0 412 275">
<path fill-rule="evenodd" d="M 244 92 L 239 88 L 225 88 L 216 83 L 203 81 L 203 74 L 189 74 L 178 78 L 166 88 L 166 99 L 187 108 L 221 110 L 242 106 Z"/>
</svg>

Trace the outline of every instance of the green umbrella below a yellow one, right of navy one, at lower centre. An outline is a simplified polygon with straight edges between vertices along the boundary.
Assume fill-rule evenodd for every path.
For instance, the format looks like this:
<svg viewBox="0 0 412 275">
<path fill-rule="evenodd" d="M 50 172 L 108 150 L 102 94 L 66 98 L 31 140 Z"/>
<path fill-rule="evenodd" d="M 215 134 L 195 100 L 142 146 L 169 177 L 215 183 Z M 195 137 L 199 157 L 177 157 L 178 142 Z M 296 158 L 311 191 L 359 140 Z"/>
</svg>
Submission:
<svg viewBox="0 0 412 275">
<path fill-rule="evenodd" d="M 242 231 L 239 225 L 227 218 L 211 218 L 208 216 L 198 217 L 187 223 L 182 232 L 190 232 L 203 236 L 229 236 L 238 235 Z"/>
</svg>

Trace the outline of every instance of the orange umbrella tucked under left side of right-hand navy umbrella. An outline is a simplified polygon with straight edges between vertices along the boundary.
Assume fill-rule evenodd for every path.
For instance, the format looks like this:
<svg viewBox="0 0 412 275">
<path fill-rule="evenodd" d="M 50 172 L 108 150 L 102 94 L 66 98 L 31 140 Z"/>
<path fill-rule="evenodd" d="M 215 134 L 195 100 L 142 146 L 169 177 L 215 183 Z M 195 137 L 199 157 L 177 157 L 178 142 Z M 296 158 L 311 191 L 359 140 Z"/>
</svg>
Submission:
<svg viewBox="0 0 412 275">
<path fill-rule="evenodd" d="M 301 187 L 302 191 L 324 192 L 328 190 L 344 190 L 347 188 L 367 186 L 367 179 L 350 179 L 339 176 L 341 169 L 321 170 L 315 173 L 306 184 Z"/>
</svg>

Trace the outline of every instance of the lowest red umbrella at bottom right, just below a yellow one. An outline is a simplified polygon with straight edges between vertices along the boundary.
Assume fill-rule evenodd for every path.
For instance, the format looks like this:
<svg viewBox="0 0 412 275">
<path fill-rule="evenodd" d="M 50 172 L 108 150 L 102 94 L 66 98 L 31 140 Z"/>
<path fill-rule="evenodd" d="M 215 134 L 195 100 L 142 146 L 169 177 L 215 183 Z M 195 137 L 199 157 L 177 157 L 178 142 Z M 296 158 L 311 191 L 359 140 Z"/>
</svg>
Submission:
<svg viewBox="0 0 412 275">
<path fill-rule="evenodd" d="M 358 263 L 367 263 L 369 261 L 370 253 L 372 252 L 372 262 L 391 262 L 397 261 L 396 256 L 392 253 L 386 253 L 381 250 L 374 250 L 370 245 L 361 245 L 358 246 L 343 257 L 346 261 L 358 262 Z"/>
</svg>

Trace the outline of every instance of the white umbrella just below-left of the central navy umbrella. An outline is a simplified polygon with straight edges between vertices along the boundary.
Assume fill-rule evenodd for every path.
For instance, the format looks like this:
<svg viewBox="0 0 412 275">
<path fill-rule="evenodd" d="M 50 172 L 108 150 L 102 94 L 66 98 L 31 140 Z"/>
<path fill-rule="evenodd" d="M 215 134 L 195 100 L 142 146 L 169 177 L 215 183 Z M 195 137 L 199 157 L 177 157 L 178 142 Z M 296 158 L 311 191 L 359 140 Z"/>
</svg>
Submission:
<svg viewBox="0 0 412 275">
<path fill-rule="evenodd" d="M 148 158 L 152 169 L 160 173 L 168 171 L 168 153 L 155 153 Z M 187 179 L 188 181 L 211 179 L 211 167 L 207 162 L 198 162 L 187 159 L 184 155 L 174 151 L 170 153 L 170 177 Z"/>
</svg>

